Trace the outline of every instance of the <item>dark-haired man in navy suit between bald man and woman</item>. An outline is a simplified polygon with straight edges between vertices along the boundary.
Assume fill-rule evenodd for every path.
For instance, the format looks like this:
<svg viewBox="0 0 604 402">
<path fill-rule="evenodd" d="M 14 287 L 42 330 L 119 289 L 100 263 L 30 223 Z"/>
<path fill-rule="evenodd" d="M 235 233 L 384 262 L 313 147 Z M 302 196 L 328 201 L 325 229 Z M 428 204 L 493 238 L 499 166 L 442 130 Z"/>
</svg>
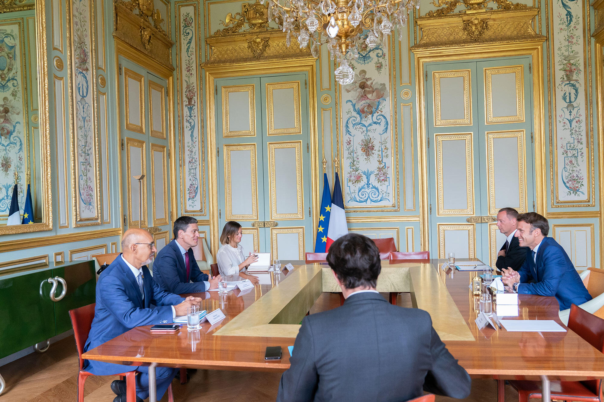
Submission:
<svg viewBox="0 0 604 402">
<path fill-rule="evenodd" d="M 197 219 L 179 217 L 174 221 L 173 233 L 174 240 L 159 251 L 153 262 L 153 279 L 168 292 L 179 295 L 216 289 L 220 275 L 210 278 L 202 273 L 191 248 L 199 241 Z"/>
</svg>

